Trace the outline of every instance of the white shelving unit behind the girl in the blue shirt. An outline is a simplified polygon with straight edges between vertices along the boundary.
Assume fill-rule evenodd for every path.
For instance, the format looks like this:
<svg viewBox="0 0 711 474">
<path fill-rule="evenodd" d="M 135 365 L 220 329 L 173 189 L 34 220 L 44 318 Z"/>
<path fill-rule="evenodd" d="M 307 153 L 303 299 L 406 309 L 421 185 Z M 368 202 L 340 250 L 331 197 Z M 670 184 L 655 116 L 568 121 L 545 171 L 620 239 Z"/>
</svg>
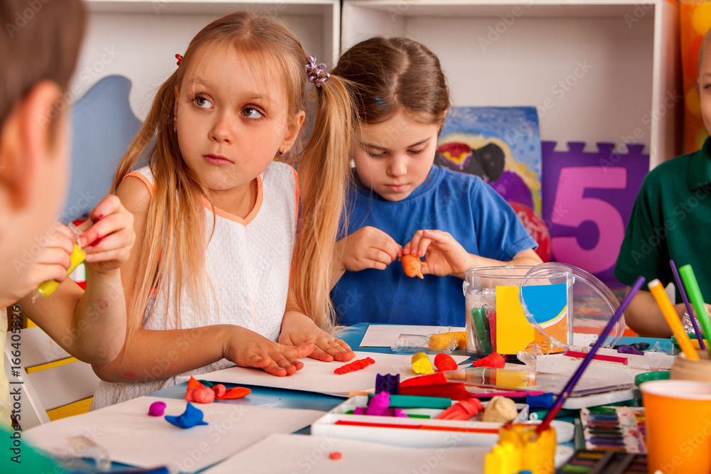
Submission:
<svg viewBox="0 0 711 474">
<path fill-rule="evenodd" d="M 541 138 L 680 151 L 678 10 L 668 0 L 343 0 L 341 50 L 407 36 L 436 53 L 454 105 L 538 107 Z"/>
</svg>

